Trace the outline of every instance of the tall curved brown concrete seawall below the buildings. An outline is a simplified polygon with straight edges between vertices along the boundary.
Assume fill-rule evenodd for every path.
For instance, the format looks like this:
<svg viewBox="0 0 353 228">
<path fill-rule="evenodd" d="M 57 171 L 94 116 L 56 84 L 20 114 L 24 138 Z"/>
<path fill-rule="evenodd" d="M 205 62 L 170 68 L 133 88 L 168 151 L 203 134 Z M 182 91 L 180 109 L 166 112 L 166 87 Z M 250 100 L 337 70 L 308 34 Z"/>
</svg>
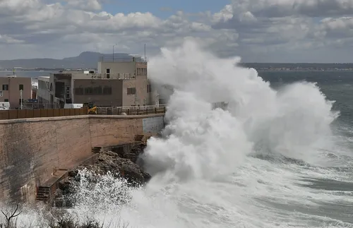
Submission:
<svg viewBox="0 0 353 228">
<path fill-rule="evenodd" d="M 92 156 L 164 127 L 164 114 L 61 116 L 0 121 L 0 200 L 34 202 L 36 189 Z"/>
</svg>

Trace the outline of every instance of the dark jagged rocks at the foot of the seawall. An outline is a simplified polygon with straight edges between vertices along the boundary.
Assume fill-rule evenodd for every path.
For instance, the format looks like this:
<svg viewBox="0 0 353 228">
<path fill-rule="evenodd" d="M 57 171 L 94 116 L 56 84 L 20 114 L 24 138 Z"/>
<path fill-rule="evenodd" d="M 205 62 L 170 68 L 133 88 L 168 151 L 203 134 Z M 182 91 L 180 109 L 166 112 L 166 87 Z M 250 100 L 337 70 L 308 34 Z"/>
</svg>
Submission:
<svg viewBox="0 0 353 228">
<path fill-rule="evenodd" d="M 150 174 L 143 171 L 139 155 L 143 153 L 145 143 L 134 145 L 128 152 L 113 152 L 105 150 L 97 155 L 95 164 L 84 165 L 68 172 L 68 177 L 59 182 L 53 205 L 56 207 L 71 207 L 75 203 L 76 192 L 80 187 L 82 170 L 92 173 L 89 181 L 96 184 L 101 175 L 108 172 L 116 178 L 126 179 L 130 186 L 140 186 L 148 182 Z"/>
</svg>

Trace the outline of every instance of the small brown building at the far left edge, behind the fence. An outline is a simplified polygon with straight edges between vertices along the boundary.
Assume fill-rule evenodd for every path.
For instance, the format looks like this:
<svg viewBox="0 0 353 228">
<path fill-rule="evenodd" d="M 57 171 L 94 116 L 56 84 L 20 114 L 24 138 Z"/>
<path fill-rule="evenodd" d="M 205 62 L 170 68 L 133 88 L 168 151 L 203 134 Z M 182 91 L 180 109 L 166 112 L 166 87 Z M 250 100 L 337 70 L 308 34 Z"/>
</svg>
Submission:
<svg viewBox="0 0 353 228">
<path fill-rule="evenodd" d="M 10 102 L 10 108 L 20 108 L 22 90 L 22 102 L 32 98 L 32 81 L 31 78 L 18 78 L 16 76 L 8 76 L 0 78 L 0 102 Z"/>
</svg>

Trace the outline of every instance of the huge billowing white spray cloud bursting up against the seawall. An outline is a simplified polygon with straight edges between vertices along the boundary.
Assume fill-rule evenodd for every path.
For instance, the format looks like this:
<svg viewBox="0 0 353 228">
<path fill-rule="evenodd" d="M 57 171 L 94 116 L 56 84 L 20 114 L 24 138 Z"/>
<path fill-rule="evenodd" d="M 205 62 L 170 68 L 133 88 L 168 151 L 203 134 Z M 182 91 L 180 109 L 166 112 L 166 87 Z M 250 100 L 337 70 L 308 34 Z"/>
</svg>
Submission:
<svg viewBox="0 0 353 228">
<path fill-rule="evenodd" d="M 186 41 L 162 49 L 150 61 L 149 76 L 172 85 L 164 134 L 145 150 L 147 171 L 166 176 L 213 177 L 233 172 L 246 155 L 279 153 L 306 160 L 330 136 L 332 103 L 313 83 L 295 83 L 277 92 L 239 58 L 219 59 Z M 211 102 L 229 102 L 229 110 Z"/>
</svg>

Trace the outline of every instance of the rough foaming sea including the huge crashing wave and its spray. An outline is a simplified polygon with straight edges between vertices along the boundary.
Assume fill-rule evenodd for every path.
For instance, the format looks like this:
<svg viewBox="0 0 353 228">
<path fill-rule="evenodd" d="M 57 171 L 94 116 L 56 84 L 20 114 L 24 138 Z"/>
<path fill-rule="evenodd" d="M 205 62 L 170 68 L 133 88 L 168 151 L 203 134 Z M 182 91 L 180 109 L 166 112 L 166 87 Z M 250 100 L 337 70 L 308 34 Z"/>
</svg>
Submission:
<svg viewBox="0 0 353 228">
<path fill-rule="evenodd" d="M 237 61 L 194 43 L 151 59 L 152 80 L 176 88 L 142 157 L 152 180 L 131 188 L 108 174 L 91 186 L 85 171 L 68 211 L 103 227 L 353 227 L 353 72 Z M 211 108 L 222 100 L 227 110 Z"/>
</svg>

